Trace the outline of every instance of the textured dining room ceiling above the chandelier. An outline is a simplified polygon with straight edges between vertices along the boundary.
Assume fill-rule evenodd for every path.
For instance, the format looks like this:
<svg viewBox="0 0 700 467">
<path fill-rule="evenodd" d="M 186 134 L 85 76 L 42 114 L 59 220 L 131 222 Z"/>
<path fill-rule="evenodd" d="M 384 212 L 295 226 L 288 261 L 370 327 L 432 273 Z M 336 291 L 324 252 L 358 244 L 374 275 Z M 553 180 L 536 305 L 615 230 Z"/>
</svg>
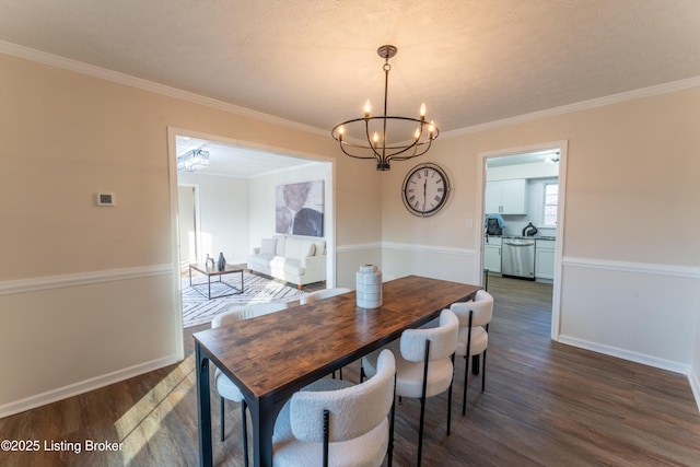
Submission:
<svg viewBox="0 0 700 467">
<path fill-rule="evenodd" d="M 698 0 L 0 0 L 0 40 L 323 131 L 383 101 L 444 135 L 700 77 Z"/>
</svg>

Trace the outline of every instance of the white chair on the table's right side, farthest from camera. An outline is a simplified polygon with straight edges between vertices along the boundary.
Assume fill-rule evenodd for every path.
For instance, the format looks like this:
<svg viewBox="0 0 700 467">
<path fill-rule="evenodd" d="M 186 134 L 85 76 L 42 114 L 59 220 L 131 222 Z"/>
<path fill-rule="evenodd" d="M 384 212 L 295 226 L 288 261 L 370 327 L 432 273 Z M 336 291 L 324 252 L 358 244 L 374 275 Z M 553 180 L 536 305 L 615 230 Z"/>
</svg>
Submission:
<svg viewBox="0 0 700 467">
<path fill-rule="evenodd" d="M 462 415 L 464 416 L 467 413 L 467 377 L 470 357 L 474 373 L 474 360 L 481 355 L 481 392 L 483 393 L 486 389 L 486 350 L 489 347 L 489 324 L 493 317 L 493 296 L 487 291 L 479 290 L 475 300 L 453 303 L 450 310 L 459 318 L 456 354 L 465 359 L 464 394 L 462 396 Z M 478 360 L 476 363 L 478 364 Z"/>
</svg>

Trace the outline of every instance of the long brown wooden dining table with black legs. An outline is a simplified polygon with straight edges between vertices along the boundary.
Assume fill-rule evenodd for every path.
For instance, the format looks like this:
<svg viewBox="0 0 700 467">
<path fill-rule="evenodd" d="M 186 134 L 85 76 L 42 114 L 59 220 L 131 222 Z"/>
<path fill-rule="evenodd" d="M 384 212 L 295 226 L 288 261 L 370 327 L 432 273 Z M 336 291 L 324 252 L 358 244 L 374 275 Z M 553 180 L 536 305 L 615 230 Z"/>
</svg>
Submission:
<svg viewBox="0 0 700 467">
<path fill-rule="evenodd" d="M 254 465 L 272 465 L 275 421 L 304 386 L 474 297 L 478 285 L 408 276 L 383 284 L 378 308 L 354 291 L 194 335 L 200 465 L 212 465 L 210 365 L 241 388 L 250 410 Z"/>
</svg>

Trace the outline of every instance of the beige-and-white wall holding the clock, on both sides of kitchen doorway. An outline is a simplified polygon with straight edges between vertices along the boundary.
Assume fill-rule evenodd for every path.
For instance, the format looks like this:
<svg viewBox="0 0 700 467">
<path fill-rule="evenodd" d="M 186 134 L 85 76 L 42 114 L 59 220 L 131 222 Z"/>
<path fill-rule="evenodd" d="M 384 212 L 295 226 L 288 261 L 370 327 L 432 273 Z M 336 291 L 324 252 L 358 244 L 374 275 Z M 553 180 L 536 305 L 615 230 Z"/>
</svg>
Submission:
<svg viewBox="0 0 700 467">
<path fill-rule="evenodd" d="M 439 140 L 425 161 L 442 165 L 453 182 L 442 212 L 420 219 L 404 208 L 400 186 L 413 164 L 384 180 L 383 241 L 396 246 L 385 249 L 384 270 L 441 267 L 443 275 L 478 281 L 479 153 L 568 140 L 561 323 L 553 334 L 697 375 L 699 120 L 700 87 L 693 87 Z M 429 245 L 431 254 L 411 245 Z M 462 255 L 450 259 L 451 250 Z"/>
</svg>

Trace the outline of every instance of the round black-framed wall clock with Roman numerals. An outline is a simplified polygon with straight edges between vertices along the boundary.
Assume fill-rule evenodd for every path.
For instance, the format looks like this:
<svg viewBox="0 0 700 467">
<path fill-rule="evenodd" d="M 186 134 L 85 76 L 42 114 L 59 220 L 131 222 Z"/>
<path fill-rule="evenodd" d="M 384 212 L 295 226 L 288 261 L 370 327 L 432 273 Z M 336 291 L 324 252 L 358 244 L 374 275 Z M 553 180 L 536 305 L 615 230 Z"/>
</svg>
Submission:
<svg viewBox="0 0 700 467">
<path fill-rule="evenodd" d="M 402 198 L 411 214 L 427 218 L 440 211 L 450 194 L 450 180 L 439 165 L 415 166 L 404 179 Z"/>
</svg>

